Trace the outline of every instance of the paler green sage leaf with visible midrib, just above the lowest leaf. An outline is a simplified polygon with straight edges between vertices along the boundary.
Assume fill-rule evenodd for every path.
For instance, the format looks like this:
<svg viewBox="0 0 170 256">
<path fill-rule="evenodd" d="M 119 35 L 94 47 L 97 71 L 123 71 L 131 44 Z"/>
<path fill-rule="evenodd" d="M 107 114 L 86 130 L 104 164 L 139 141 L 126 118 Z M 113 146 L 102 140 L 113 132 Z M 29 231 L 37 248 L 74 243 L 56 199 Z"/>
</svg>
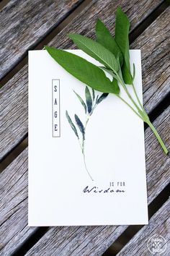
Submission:
<svg viewBox="0 0 170 256">
<path fill-rule="evenodd" d="M 69 38 L 71 38 L 76 46 L 78 46 L 86 54 L 89 54 L 89 56 L 97 59 L 97 61 L 104 64 L 104 66 L 109 67 L 109 69 L 112 69 L 114 72 L 118 71 L 115 55 L 112 54 L 111 51 L 108 51 L 107 48 L 102 46 L 100 43 L 87 38 L 85 35 L 79 34 L 69 34 Z"/>
</svg>

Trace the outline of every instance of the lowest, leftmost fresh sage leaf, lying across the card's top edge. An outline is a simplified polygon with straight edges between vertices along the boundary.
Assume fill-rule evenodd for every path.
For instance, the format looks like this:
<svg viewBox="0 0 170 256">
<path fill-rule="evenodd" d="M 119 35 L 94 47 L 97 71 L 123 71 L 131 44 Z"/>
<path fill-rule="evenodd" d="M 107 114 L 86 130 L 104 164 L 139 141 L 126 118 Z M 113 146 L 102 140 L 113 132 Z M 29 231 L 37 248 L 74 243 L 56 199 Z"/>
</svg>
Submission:
<svg viewBox="0 0 170 256">
<path fill-rule="evenodd" d="M 114 88 L 112 88 L 112 82 L 99 67 L 68 51 L 59 50 L 50 46 L 45 46 L 45 49 L 61 67 L 81 82 L 102 93 L 115 93 Z"/>
</svg>

